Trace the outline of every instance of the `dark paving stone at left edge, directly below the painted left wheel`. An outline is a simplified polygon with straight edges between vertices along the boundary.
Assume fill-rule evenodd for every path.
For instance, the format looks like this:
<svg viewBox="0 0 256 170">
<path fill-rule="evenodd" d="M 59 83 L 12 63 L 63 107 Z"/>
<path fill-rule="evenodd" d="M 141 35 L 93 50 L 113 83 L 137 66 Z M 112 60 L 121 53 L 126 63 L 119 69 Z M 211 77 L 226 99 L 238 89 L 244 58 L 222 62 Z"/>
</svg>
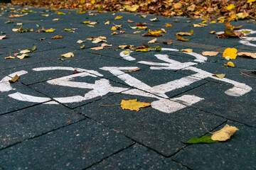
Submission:
<svg viewBox="0 0 256 170">
<path fill-rule="evenodd" d="M 3 149 L 17 142 L 82 120 L 82 118 L 82 115 L 78 115 L 63 106 L 47 104 L 1 115 L 0 147 Z"/>
</svg>

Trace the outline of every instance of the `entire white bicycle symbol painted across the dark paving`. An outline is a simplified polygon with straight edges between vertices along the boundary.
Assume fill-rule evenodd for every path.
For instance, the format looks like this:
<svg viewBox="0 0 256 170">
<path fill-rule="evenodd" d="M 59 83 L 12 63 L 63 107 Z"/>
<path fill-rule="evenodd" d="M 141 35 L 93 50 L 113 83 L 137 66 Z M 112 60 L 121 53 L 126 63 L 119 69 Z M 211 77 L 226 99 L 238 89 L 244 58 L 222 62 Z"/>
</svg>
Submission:
<svg viewBox="0 0 256 170">
<path fill-rule="evenodd" d="M 171 49 L 171 48 L 163 48 L 162 50 L 178 52 L 177 49 Z M 124 70 L 137 69 L 137 67 L 102 67 L 100 68 L 101 70 L 105 70 L 112 73 L 114 76 L 118 77 L 129 86 L 132 86 L 133 89 L 112 86 L 110 84 L 110 81 L 104 78 L 95 81 L 94 84 L 72 81 L 75 77 L 95 77 L 95 78 L 103 77 L 102 74 L 94 70 L 80 69 L 80 68 L 73 68 L 73 67 L 38 67 L 38 68 L 33 68 L 32 70 L 36 72 L 45 72 L 49 70 L 73 71 L 74 69 L 77 69 L 78 72 L 80 73 L 73 74 L 70 76 L 60 77 L 58 79 L 51 79 L 51 80 L 48 80 L 47 83 L 52 85 L 57 85 L 57 86 L 69 86 L 73 88 L 91 89 L 91 90 L 88 91 L 83 96 L 68 96 L 68 97 L 66 96 L 66 97 L 60 97 L 60 98 L 43 98 L 38 96 L 31 96 L 28 94 L 22 94 L 20 92 L 9 94 L 8 96 L 18 101 L 58 104 L 58 103 L 75 103 L 75 102 L 87 101 L 91 98 L 104 96 L 110 92 L 113 92 L 113 93 L 156 98 L 157 101 L 153 101 L 151 103 L 152 108 L 158 111 L 162 111 L 164 113 L 174 113 L 178 110 L 181 110 L 182 108 L 191 106 L 194 103 L 203 101 L 204 98 L 200 98 L 195 95 L 183 95 L 178 98 L 169 98 L 168 96 L 166 96 L 167 92 L 174 91 L 175 89 L 181 89 L 185 86 L 190 86 L 194 82 L 200 81 L 202 79 L 206 79 L 207 77 L 210 77 L 212 79 L 218 79 L 217 77 L 216 78 L 212 77 L 213 74 L 210 72 L 206 72 L 206 71 L 203 71 L 202 69 L 192 67 L 193 65 L 196 65 L 198 63 L 206 62 L 207 57 L 204 57 L 203 55 L 199 55 L 195 52 L 190 52 L 187 54 L 192 55 L 196 59 L 193 60 L 193 62 L 178 62 L 176 60 L 169 59 L 168 55 L 157 54 L 155 55 L 155 57 L 158 60 L 161 60 L 162 62 L 147 62 L 147 61 L 137 62 L 140 64 L 149 65 L 151 66 L 150 69 L 153 69 L 153 70 L 154 69 L 167 69 L 167 70 L 181 69 L 181 70 L 191 70 L 195 72 L 195 74 L 192 74 L 190 76 L 183 77 L 181 79 L 176 79 L 174 81 L 169 81 L 165 84 L 159 84 L 157 86 L 149 86 L 148 84 L 145 84 L 139 79 L 136 79 L 135 77 L 132 77 L 131 75 L 123 72 Z M 125 60 L 136 60 L 130 54 L 124 55 L 124 52 L 121 52 L 120 56 L 123 57 Z M 27 73 L 28 72 L 21 70 L 19 72 L 14 72 L 12 74 L 9 74 L 9 76 L 7 77 L 4 77 L 0 81 L 0 91 L 4 92 L 4 91 L 14 90 L 11 87 L 11 84 L 9 84 L 8 82 L 10 77 L 14 77 L 14 75 L 16 74 L 18 74 L 18 76 L 21 76 Z M 238 81 L 233 81 L 225 78 L 218 79 L 218 80 L 224 81 L 228 84 L 233 84 L 233 88 L 225 91 L 225 94 L 229 96 L 242 96 L 252 90 L 250 86 L 247 86 L 246 84 L 242 84 Z"/>
</svg>

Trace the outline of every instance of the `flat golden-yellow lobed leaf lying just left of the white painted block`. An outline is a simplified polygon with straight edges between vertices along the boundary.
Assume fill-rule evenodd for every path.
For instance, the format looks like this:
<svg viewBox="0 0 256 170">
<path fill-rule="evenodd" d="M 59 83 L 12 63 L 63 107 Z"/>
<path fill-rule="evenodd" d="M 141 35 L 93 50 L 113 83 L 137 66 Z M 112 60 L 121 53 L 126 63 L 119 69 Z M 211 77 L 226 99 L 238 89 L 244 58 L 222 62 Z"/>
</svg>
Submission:
<svg viewBox="0 0 256 170">
<path fill-rule="evenodd" d="M 151 106 L 151 103 L 145 103 L 145 102 L 140 102 L 137 101 L 137 99 L 129 100 L 129 101 L 124 101 L 120 103 L 122 109 L 129 109 L 130 111 L 139 111 L 139 108 L 145 108 L 147 106 Z"/>
</svg>

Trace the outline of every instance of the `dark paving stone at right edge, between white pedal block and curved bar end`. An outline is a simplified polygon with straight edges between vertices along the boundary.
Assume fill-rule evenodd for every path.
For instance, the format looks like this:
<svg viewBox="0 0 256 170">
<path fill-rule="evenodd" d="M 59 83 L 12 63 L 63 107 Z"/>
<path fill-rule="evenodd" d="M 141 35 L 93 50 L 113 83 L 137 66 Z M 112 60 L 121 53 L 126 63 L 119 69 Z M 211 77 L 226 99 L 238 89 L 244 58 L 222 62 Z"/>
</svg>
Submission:
<svg viewBox="0 0 256 170">
<path fill-rule="evenodd" d="M 255 126 L 255 90 L 243 96 L 229 96 L 225 94 L 225 91 L 231 88 L 233 86 L 209 82 L 183 95 L 196 95 L 204 98 L 203 101 L 193 104 L 195 108 Z"/>
</svg>

